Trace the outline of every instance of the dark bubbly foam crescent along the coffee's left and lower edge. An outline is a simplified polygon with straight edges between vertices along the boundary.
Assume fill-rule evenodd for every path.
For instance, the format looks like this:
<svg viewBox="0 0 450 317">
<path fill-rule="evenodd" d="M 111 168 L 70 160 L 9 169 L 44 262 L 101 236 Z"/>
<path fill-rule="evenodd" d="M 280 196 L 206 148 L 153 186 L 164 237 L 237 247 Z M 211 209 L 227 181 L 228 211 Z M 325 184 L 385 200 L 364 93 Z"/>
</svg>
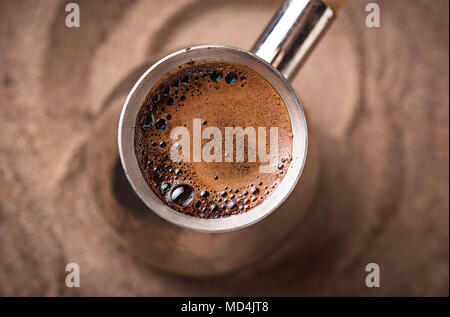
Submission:
<svg viewBox="0 0 450 317">
<path fill-rule="evenodd" d="M 135 152 L 147 184 L 171 208 L 201 218 L 230 216 L 261 204 L 279 184 L 266 185 L 264 180 L 255 179 L 255 184 L 232 188 L 217 174 L 212 181 L 224 185 L 217 189 L 198 177 L 192 163 L 172 161 L 169 155 L 172 145 L 182 150 L 181 144 L 172 144 L 168 138 L 178 109 L 185 107 L 190 98 L 210 90 L 245 89 L 252 76 L 256 74 L 241 65 L 191 62 L 163 78 L 149 92 L 136 117 Z M 192 118 L 186 118 L 186 122 L 189 120 Z M 209 120 L 202 120 L 201 125 L 208 126 Z M 279 175 L 287 171 L 291 160 L 290 155 L 280 158 L 276 164 Z"/>
</svg>

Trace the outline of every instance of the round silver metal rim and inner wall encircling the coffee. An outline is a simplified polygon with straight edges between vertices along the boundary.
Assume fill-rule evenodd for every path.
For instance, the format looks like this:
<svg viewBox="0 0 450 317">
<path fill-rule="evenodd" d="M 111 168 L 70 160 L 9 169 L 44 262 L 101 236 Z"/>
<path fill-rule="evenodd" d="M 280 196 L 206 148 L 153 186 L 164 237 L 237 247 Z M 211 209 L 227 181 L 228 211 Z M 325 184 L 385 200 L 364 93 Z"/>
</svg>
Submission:
<svg viewBox="0 0 450 317">
<path fill-rule="evenodd" d="M 261 74 L 284 100 L 292 125 L 292 162 L 270 199 L 250 212 L 217 219 L 184 215 L 162 202 L 145 182 L 134 152 L 134 126 L 137 113 L 148 91 L 165 74 L 193 60 L 226 60 L 250 67 Z M 289 82 L 272 65 L 245 50 L 230 46 L 206 45 L 190 47 L 166 56 L 150 67 L 138 80 L 125 101 L 119 122 L 119 153 L 125 174 L 144 203 L 165 220 L 183 228 L 202 232 L 226 232 L 254 224 L 276 210 L 289 196 L 302 173 L 308 148 L 306 118 Z M 261 240 L 263 241 L 263 239 Z"/>
</svg>

